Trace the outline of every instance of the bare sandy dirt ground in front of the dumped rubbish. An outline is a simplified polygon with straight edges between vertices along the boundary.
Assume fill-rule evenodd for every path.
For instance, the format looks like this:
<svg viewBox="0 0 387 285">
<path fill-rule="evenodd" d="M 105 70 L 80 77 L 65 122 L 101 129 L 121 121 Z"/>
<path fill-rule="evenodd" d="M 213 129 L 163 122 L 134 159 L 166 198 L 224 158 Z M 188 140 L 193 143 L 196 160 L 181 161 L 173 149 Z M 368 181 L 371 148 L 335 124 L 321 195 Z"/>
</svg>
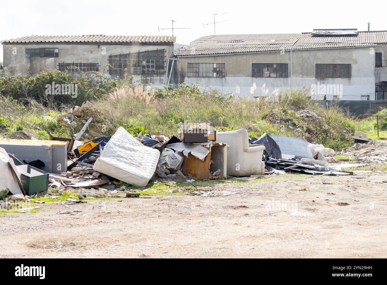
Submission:
<svg viewBox="0 0 387 285">
<path fill-rule="evenodd" d="M 286 174 L 214 186 L 237 192 L 224 197 L 41 204 L 0 215 L 0 257 L 385 258 L 386 180 Z"/>
</svg>

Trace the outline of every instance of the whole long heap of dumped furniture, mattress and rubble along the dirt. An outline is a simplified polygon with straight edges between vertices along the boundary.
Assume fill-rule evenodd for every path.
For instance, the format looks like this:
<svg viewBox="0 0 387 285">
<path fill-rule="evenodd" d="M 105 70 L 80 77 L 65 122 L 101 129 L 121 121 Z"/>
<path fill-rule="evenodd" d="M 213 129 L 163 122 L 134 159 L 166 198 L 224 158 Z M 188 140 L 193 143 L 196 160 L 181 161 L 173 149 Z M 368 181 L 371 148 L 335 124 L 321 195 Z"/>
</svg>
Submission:
<svg viewBox="0 0 387 285">
<path fill-rule="evenodd" d="M 310 119 L 319 119 L 310 112 L 302 114 Z M 324 145 L 311 144 L 292 136 L 269 136 L 266 133 L 259 138 L 248 138 L 245 129 L 217 133 L 205 124 L 185 127 L 178 135 L 180 138 L 142 133 L 134 137 L 120 127 L 113 136 L 98 136 L 80 142 L 77 138 L 80 138 L 86 127 L 90 128 L 92 124 L 92 120 L 87 119 L 90 115 L 95 116 L 96 110 L 88 103 L 84 103 L 82 107 L 75 107 L 71 114 L 62 118 L 62 122 L 74 128 L 74 132 L 78 131 L 71 139 L 54 137 L 49 132 L 50 140 L 0 139 L 0 163 L 5 169 L 5 175 L 0 181 L 0 191 L 6 190 L 7 193 L 27 197 L 47 190 L 60 192 L 63 189 L 77 189 L 79 195 L 75 198 L 81 200 L 86 197 L 106 197 L 115 191 L 134 197 L 133 193 L 122 187 L 123 183 L 144 188 L 150 180 L 159 178 L 186 180 L 187 183 L 191 183 L 187 178 L 227 178 L 228 166 L 235 168 L 234 164 L 228 161 L 234 162 L 233 159 L 238 157 L 239 154 L 235 151 L 237 148 L 244 153 L 243 155 L 252 155 L 250 158 L 253 159 L 241 160 L 242 163 L 246 164 L 246 161 L 249 161 L 248 164 L 260 166 L 245 168 L 252 169 L 250 173 L 252 177 L 286 172 L 313 175 L 353 174 L 342 171 L 349 167 L 348 165 L 333 164 L 332 158 L 327 161 L 326 157 L 332 157 L 335 152 L 325 148 Z M 82 123 L 86 121 L 87 126 L 84 125 L 80 129 L 77 121 Z M 103 126 L 107 127 L 108 124 Z M 101 134 L 105 131 L 96 133 Z M 92 132 L 89 132 L 89 136 L 91 134 Z M 231 138 L 238 135 L 241 141 L 234 145 L 234 141 L 228 143 L 217 141 L 218 137 L 226 140 L 224 135 Z M 230 147 L 231 145 L 233 147 Z M 341 153 L 348 154 L 353 161 L 384 162 L 387 161 L 387 157 L 380 153 L 385 154 L 386 150 L 387 143 L 368 140 L 363 144 L 355 143 L 353 147 Z M 256 169 L 262 172 L 253 173 L 260 171 Z M 248 178 L 253 179 L 252 177 Z M 178 189 L 176 191 L 179 192 Z M 234 194 L 216 190 L 204 192 L 195 189 L 192 194 L 202 196 Z M 68 202 L 77 203 L 72 200 Z"/>
</svg>

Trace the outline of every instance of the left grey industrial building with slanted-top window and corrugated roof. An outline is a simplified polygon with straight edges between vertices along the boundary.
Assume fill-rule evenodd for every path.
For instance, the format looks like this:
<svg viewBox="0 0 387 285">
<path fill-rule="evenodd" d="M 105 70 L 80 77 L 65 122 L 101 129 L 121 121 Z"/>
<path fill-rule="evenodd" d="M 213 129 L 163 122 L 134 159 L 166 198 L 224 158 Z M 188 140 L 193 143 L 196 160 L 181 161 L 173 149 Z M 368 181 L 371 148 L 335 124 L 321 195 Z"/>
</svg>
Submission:
<svg viewBox="0 0 387 285">
<path fill-rule="evenodd" d="M 164 84 L 166 59 L 173 56 L 172 36 L 25 36 L 4 40 L 7 74 L 26 76 L 42 69 L 100 71 L 108 77 L 151 78 Z"/>
</svg>

